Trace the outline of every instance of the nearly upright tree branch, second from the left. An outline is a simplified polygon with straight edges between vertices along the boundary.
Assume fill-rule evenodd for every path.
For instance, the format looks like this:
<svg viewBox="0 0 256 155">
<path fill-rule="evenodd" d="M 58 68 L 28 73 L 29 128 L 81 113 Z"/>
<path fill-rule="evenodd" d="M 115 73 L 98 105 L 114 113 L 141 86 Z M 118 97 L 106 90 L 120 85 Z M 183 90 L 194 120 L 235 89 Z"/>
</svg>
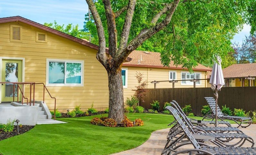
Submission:
<svg viewBox="0 0 256 155">
<path fill-rule="evenodd" d="M 114 13 L 112 11 L 110 0 L 103 0 L 105 6 L 105 14 L 107 20 L 108 40 L 109 40 L 109 54 L 114 57 L 117 51 L 117 34 Z"/>
</svg>

